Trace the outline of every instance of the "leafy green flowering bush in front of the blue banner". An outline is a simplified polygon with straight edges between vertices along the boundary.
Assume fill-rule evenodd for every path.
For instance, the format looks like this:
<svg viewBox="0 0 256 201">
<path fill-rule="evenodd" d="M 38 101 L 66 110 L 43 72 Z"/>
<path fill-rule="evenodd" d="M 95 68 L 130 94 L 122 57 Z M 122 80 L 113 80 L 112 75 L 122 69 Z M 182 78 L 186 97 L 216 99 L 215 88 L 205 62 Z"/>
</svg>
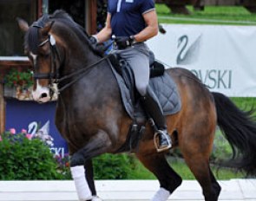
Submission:
<svg viewBox="0 0 256 201">
<path fill-rule="evenodd" d="M 25 133 L 0 135 L 0 180 L 61 179 L 49 146 Z"/>
</svg>

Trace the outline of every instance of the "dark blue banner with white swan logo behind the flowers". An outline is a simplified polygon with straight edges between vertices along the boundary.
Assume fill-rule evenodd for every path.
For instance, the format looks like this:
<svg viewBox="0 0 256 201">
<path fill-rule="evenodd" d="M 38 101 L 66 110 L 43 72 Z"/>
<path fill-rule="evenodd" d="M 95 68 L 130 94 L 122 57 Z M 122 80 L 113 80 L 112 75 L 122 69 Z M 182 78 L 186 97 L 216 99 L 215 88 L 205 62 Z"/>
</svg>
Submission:
<svg viewBox="0 0 256 201">
<path fill-rule="evenodd" d="M 6 130 L 16 129 L 16 133 L 26 130 L 31 135 L 43 133 L 53 141 L 50 150 L 64 157 L 68 146 L 55 126 L 56 101 L 39 104 L 35 101 L 6 100 Z"/>
</svg>

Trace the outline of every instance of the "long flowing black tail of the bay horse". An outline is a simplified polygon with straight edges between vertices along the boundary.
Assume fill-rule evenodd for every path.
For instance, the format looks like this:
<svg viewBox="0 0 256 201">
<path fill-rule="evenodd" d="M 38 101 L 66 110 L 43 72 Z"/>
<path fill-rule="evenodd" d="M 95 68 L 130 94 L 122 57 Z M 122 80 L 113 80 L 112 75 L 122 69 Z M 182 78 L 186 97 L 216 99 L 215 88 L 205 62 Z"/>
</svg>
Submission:
<svg viewBox="0 0 256 201">
<path fill-rule="evenodd" d="M 217 111 L 217 123 L 233 149 L 235 168 L 256 173 L 256 121 L 253 109 L 245 112 L 224 94 L 212 93 Z"/>
</svg>

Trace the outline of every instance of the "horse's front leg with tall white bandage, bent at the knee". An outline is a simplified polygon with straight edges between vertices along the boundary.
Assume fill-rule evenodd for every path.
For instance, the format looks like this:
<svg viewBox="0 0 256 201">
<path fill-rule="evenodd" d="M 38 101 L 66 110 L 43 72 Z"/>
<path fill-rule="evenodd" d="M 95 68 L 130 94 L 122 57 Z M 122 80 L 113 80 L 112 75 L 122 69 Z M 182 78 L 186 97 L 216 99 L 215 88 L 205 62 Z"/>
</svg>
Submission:
<svg viewBox="0 0 256 201">
<path fill-rule="evenodd" d="M 93 195 L 95 195 L 94 182 L 93 186 L 91 185 L 93 181 L 93 177 L 91 177 L 92 166 L 89 170 L 86 170 L 85 167 L 89 167 L 86 165 L 89 159 L 106 152 L 110 145 L 111 141 L 108 138 L 108 133 L 101 130 L 97 134 L 93 135 L 93 139 L 91 139 L 86 146 L 83 146 L 82 149 L 78 150 L 71 156 L 70 170 L 72 178 L 75 181 L 75 189 L 80 201 L 97 200 L 97 197 L 93 197 Z M 90 187 L 92 191 L 90 190 Z"/>
</svg>

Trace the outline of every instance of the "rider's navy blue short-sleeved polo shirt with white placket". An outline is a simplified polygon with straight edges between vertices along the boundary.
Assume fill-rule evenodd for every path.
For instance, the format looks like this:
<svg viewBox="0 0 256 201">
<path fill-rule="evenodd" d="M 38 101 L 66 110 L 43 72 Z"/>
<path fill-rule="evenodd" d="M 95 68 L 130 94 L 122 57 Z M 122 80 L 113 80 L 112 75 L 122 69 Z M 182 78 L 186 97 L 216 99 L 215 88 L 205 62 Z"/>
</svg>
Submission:
<svg viewBox="0 0 256 201">
<path fill-rule="evenodd" d="M 154 10 L 154 0 L 108 0 L 112 34 L 134 36 L 146 27 L 143 14 Z"/>
</svg>

